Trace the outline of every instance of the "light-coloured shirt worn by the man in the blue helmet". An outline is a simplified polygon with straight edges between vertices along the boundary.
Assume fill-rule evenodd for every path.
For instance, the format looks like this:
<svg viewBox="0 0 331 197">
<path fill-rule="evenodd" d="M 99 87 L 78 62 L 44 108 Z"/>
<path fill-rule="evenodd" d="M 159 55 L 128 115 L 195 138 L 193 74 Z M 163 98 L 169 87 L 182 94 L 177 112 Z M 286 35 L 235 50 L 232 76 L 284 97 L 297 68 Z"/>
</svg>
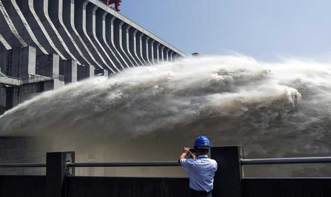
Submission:
<svg viewBox="0 0 331 197">
<path fill-rule="evenodd" d="M 190 175 L 190 187 L 197 191 L 211 191 L 213 189 L 214 175 L 217 162 L 209 159 L 207 155 L 197 159 L 181 159 L 180 164 L 184 171 Z"/>
</svg>

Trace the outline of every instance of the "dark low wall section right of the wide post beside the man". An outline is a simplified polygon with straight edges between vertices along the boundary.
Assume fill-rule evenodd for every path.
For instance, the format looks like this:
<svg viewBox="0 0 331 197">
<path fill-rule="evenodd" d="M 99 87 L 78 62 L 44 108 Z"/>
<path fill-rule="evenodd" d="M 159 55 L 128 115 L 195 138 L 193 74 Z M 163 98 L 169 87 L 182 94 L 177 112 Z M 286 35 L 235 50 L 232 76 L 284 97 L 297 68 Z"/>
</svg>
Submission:
<svg viewBox="0 0 331 197">
<path fill-rule="evenodd" d="M 244 178 L 243 197 L 328 197 L 331 178 Z"/>
</svg>

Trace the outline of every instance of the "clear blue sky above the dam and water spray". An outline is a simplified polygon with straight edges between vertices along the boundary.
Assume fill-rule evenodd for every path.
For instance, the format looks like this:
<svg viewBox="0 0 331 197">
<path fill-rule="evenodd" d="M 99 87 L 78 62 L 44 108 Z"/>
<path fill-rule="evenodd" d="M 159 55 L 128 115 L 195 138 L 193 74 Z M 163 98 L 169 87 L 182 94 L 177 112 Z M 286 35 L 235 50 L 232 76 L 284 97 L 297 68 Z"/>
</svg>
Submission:
<svg viewBox="0 0 331 197">
<path fill-rule="evenodd" d="M 121 13 L 186 54 L 331 62 L 330 0 L 122 0 Z"/>
</svg>

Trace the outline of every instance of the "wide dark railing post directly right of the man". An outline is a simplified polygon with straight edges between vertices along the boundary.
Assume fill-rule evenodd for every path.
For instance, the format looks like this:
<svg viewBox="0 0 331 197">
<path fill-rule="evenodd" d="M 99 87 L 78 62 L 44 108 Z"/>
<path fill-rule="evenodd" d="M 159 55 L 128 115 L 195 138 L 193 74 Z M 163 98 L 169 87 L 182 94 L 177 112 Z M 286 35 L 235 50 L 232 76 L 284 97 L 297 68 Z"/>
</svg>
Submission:
<svg viewBox="0 0 331 197">
<path fill-rule="evenodd" d="M 214 177 L 214 197 L 241 197 L 243 146 L 213 146 L 211 158 L 216 160 L 218 170 Z"/>
</svg>

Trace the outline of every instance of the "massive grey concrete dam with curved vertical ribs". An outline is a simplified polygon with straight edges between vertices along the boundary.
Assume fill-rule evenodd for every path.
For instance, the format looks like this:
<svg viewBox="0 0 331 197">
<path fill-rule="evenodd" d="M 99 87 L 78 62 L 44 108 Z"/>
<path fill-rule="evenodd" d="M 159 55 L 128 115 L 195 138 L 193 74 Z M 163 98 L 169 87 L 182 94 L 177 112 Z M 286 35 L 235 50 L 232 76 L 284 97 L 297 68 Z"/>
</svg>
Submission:
<svg viewBox="0 0 331 197">
<path fill-rule="evenodd" d="M 1 0 L 0 12 L 0 115 L 71 82 L 185 56 L 99 0 Z"/>
</svg>

